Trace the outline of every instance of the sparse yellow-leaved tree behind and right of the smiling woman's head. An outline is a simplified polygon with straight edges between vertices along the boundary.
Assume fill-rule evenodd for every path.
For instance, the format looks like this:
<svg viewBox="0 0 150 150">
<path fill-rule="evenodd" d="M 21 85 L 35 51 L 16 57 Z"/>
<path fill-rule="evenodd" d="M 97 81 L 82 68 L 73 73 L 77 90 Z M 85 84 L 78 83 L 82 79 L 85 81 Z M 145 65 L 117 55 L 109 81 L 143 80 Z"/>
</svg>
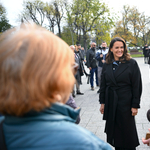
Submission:
<svg viewBox="0 0 150 150">
<path fill-rule="evenodd" d="M 129 43 L 137 45 L 138 39 L 143 39 L 148 32 L 149 23 L 150 17 L 140 13 L 137 7 L 126 5 L 123 7 L 122 19 L 116 23 L 114 37 L 120 36 Z"/>
</svg>

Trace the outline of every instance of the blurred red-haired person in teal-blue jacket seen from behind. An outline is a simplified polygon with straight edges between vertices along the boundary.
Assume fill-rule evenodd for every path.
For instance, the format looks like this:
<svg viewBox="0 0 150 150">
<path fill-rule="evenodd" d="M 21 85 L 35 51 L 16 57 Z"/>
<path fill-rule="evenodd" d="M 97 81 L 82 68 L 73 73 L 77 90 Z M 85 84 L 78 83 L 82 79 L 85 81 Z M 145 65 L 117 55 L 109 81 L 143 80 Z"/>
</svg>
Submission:
<svg viewBox="0 0 150 150">
<path fill-rule="evenodd" d="M 74 54 L 64 41 L 22 24 L 4 33 L 0 45 L 0 113 L 8 150 L 111 149 L 74 123 L 80 110 L 64 105 L 75 82 Z"/>
</svg>

